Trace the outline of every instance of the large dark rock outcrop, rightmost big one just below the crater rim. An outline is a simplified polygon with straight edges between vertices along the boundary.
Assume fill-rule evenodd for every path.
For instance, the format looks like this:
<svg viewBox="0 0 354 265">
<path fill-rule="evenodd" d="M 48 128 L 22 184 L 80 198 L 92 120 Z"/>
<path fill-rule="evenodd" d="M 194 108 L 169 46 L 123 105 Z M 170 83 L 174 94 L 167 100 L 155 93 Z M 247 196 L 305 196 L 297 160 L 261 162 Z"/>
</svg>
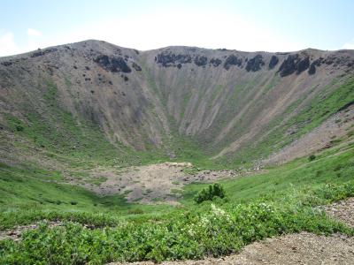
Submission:
<svg viewBox="0 0 354 265">
<path fill-rule="evenodd" d="M 309 57 L 299 57 L 298 54 L 289 55 L 284 62 L 282 62 L 281 67 L 279 68 L 279 72 L 281 77 L 285 77 L 294 72 L 296 74 L 300 74 L 308 69 L 310 66 L 310 58 Z"/>
</svg>

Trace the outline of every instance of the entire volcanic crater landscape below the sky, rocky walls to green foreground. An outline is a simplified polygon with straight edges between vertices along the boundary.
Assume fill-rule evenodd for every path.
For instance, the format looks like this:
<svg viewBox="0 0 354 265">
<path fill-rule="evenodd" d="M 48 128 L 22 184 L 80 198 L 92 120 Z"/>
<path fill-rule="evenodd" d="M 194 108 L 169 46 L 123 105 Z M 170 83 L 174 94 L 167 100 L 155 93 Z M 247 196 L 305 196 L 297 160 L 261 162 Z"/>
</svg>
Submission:
<svg viewBox="0 0 354 265">
<path fill-rule="evenodd" d="M 353 157 L 354 50 L 0 57 L 0 264 L 351 263 Z"/>
</svg>

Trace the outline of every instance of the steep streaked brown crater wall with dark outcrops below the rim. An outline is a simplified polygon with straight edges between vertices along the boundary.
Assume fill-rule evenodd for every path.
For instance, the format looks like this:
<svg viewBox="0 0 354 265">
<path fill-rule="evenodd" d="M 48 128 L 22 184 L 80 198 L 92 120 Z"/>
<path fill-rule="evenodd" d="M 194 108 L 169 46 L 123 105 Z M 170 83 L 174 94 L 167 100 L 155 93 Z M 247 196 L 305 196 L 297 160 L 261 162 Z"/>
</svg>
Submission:
<svg viewBox="0 0 354 265">
<path fill-rule="evenodd" d="M 193 143 L 215 161 L 261 160 L 347 110 L 353 73 L 354 50 L 138 51 L 86 41 L 1 57 L 0 156 L 13 162 L 26 142 L 29 154 L 110 146 L 175 157 Z"/>
</svg>

